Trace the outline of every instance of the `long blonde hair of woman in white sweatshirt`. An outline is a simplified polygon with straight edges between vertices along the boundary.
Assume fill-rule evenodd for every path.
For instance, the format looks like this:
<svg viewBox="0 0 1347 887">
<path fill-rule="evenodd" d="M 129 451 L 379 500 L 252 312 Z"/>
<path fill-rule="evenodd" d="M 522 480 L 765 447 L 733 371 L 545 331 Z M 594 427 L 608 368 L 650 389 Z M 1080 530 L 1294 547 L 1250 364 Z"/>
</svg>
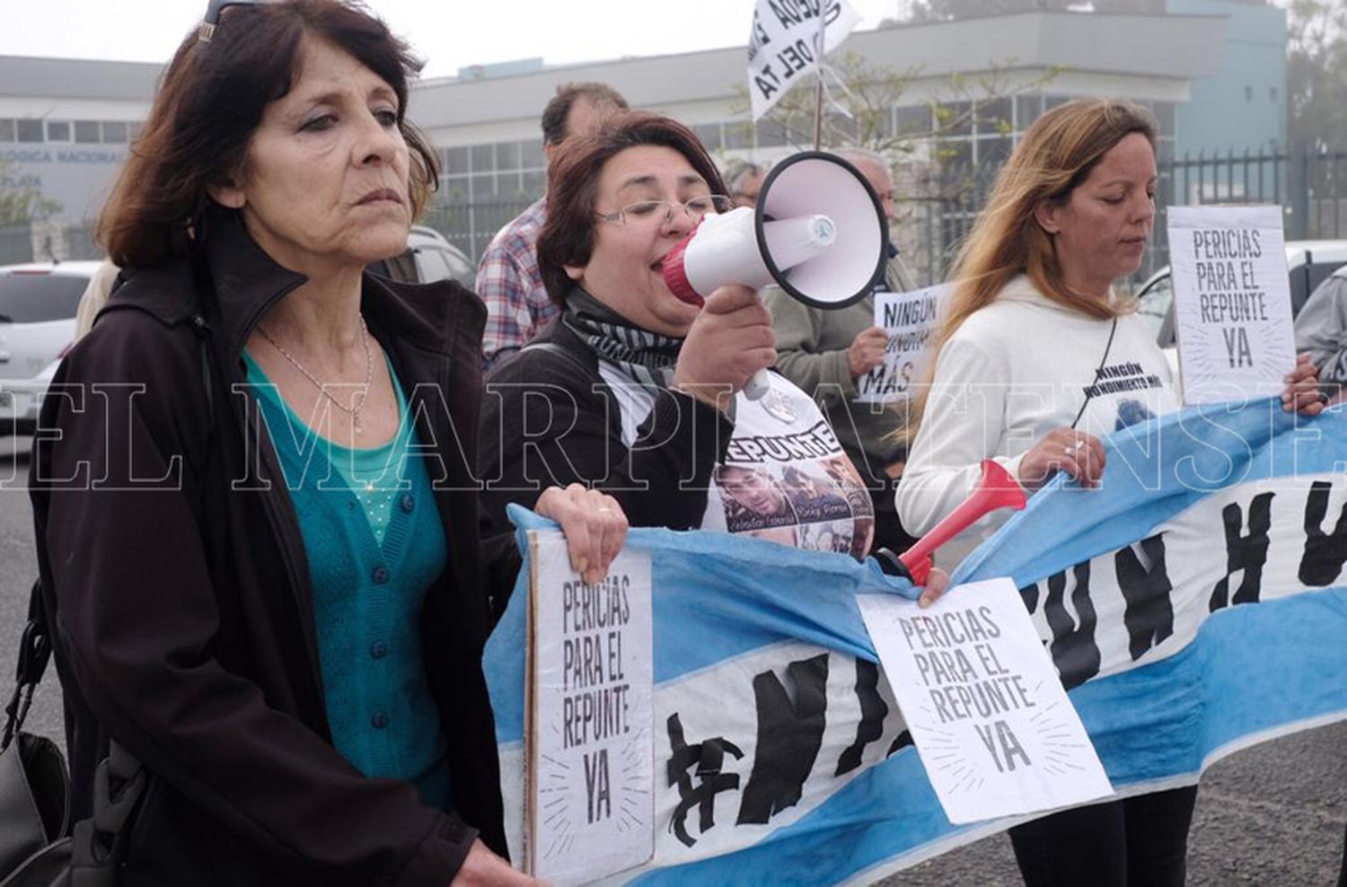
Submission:
<svg viewBox="0 0 1347 887">
<path fill-rule="evenodd" d="M 1099 160 L 1131 133 L 1145 136 L 1154 148 L 1156 124 L 1150 114 L 1129 101 L 1105 98 L 1059 105 L 1024 132 L 955 258 L 950 275 L 954 291 L 929 346 L 936 359 L 963 322 L 991 304 L 1018 275 L 1028 275 L 1048 299 L 1091 318 L 1115 318 L 1133 310 L 1129 301 L 1105 303 L 1068 288 L 1052 237 L 1034 217 L 1045 202 L 1071 199 L 1071 192 Z M 927 388 L 935 377 L 936 359 L 931 361 Z M 908 440 L 916 436 L 924 405 L 923 393 L 909 413 Z"/>
</svg>

